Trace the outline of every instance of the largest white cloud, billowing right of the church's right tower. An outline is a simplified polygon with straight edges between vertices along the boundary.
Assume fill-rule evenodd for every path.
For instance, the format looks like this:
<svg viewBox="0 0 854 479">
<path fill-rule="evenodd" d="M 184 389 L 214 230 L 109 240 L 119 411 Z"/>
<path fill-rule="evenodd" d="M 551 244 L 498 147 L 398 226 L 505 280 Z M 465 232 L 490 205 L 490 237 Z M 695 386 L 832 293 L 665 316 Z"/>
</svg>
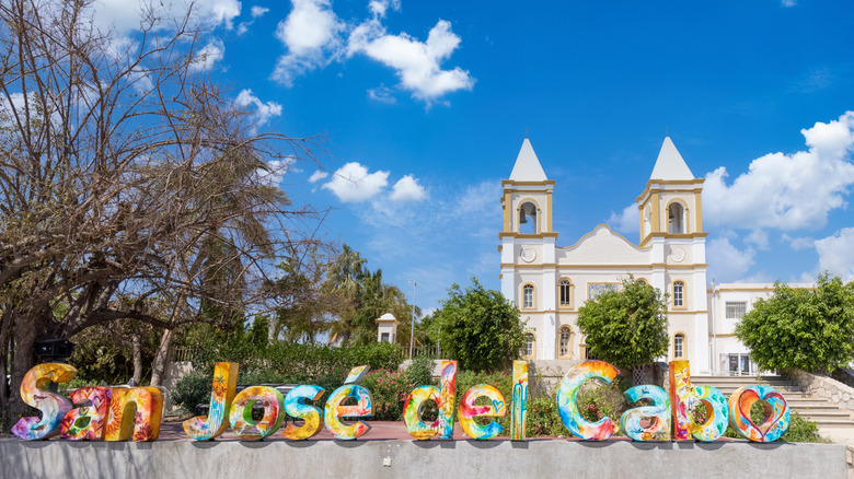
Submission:
<svg viewBox="0 0 854 479">
<path fill-rule="evenodd" d="M 801 130 L 807 151 L 754 160 L 731 185 L 725 167 L 706 175 L 703 215 L 709 224 L 797 230 L 821 227 L 828 213 L 846 206 L 854 185 L 854 112 Z"/>
</svg>

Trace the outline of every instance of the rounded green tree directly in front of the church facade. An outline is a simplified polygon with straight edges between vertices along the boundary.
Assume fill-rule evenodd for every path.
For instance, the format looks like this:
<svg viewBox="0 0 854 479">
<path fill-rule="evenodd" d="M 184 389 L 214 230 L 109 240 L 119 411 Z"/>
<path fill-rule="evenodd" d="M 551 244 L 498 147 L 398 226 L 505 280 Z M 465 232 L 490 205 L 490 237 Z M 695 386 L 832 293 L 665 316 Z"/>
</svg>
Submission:
<svg viewBox="0 0 854 479">
<path fill-rule="evenodd" d="M 593 358 L 631 370 L 667 352 L 667 302 L 661 292 L 624 279 L 578 309 L 578 327 Z"/>
</svg>

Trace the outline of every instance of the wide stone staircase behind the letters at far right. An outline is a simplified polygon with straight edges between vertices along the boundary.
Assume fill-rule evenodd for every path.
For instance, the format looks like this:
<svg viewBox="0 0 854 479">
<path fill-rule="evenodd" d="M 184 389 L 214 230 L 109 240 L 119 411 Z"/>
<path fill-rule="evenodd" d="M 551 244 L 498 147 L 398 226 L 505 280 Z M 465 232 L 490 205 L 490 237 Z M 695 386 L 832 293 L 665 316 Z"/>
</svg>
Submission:
<svg viewBox="0 0 854 479">
<path fill-rule="evenodd" d="M 819 428 L 852 428 L 854 430 L 854 421 L 851 419 L 851 414 L 840 410 L 833 402 L 824 398 L 808 396 L 801 386 L 796 385 L 792 381 L 783 376 L 762 376 L 759 381 L 761 381 L 761 384 L 766 384 L 777 389 L 786 398 L 789 410 L 810 421 L 816 421 Z M 692 375 L 691 384 L 717 387 L 729 398 L 729 395 L 739 387 L 759 383 L 757 376 Z"/>
</svg>

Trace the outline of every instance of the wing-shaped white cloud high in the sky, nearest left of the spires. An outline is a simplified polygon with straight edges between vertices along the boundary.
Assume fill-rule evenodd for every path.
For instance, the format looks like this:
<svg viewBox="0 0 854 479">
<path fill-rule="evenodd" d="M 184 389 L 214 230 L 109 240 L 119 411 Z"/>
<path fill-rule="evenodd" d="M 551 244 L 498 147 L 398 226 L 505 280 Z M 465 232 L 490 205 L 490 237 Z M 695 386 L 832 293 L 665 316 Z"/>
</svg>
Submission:
<svg viewBox="0 0 854 479">
<path fill-rule="evenodd" d="M 440 67 L 460 42 L 451 31 L 451 23 L 445 20 L 436 23 L 426 42 L 420 42 L 406 33 L 389 35 L 374 19 L 354 28 L 347 55 L 360 52 L 396 70 L 400 86 L 429 104 L 448 93 L 474 87 L 469 71 L 460 67 L 452 70 Z"/>
</svg>

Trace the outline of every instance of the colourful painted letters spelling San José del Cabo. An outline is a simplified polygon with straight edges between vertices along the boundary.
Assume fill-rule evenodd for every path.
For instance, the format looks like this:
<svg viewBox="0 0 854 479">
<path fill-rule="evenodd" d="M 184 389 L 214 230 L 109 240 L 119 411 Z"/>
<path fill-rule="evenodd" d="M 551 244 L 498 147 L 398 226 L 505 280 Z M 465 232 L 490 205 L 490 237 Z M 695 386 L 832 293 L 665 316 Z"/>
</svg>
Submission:
<svg viewBox="0 0 854 479">
<path fill-rule="evenodd" d="M 371 416 L 370 390 L 359 386 L 368 366 L 350 371 L 345 384 L 335 389 L 323 409 L 312 406 L 324 393 L 320 386 L 301 385 L 287 396 L 265 386 L 251 386 L 235 394 L 238 365 L 217 363 L 214 369 L 214 387 L 210 395 L 210 412 L 184 421 L 184 431 L 194 440 L 212 440 L 231 430 L 243 441 L 261 441 L 279 430 L 286 414 L 303 421 L 301 427 L 287 424 L 281 434 L 288 440 L 300 441 L 314 436 L 324 425 L 337 440 L 356 440 L 370 430 L 365 421 L 345 422 L 342 418 Z M 69 401 L 48 389 L 50 383 L 68 383 L 77 370 L 68 364 L 39 364 L 24 376 L 21 397 L 27 405 L 42 411 L 42 417 L 21 418 L 12 432 L 23 440 L 42 440 L 58 434 L 72 441 L 154 441 L 160 434 L 163 412 L 163 395 L 154 387 L 82 387 L 71 392 Z M 789 410 L 786 399 L 771 386 L 742 387 L 729 397 L 712 386 L 691 384 L 688 361 L 670 363 L 670 390 L 654 385 L 635 386 L 625 392 L 627 401 L 650 402 L 625 411 L 622 418 L 604 417 L 597 422 L 585 420 L 577 404 L 577 394 L 588 381 L 613 381 L 620 372 L 604 361 L 586 361 L 569 370 L 561 382 L 556 396 L 561 421 L 569 432 L 585 441 L 602 441 L 612 437 L 620 429 L 633 441 L 715 441 L 727 425 L 742 437 L 754 442 L 780 439 L 788 429 Z M 457 361 L 445 361 L 439 387 L 419 386 L 409 393 L 403 409 L 406 431 L 415 440 L 427 441 L 434 436 L 453 439 L 454 406 L 463 431 L 475 440 L 489 440 L 503 432 L 494 420 L 483 423 L 475 418 L 506 416 L 510 411 L 510 440 L 526 441 L 528 412 L 528 362 L 513 363 L 512 397 L 508 404 L 494 386 L 478 384 L 466 390 L 459 405 L 454 405 Z M 482 398 L 485 398 L 482 399 Z M 475 404 L 478 402 L 480 404 Z M 426 401 L 434 401 L 438 414 L 429 423 L 424 422 Z M 345 405 L 345 402 L 355 405 Z M 764 408 L 764 421 L 755 424 L 750 419 L 750 408 L 760 402 Z M 74 405 L 79 406 L 74 408 Z M 263 405 L 264 417 L 253 420 L 254 405 Z M 697 422 L 694 408 L 706 407 L 707 417 Z"/>
</svg>

